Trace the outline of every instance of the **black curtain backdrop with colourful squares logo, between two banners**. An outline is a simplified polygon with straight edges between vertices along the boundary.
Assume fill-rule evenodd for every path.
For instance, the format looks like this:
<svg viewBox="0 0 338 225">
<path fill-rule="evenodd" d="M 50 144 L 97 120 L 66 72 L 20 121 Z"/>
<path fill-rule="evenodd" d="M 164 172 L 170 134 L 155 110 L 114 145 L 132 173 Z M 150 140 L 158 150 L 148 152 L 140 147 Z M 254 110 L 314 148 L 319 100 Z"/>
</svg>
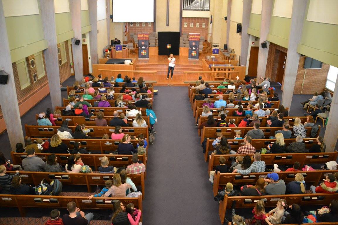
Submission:
<svg viewBox="0 0 338 225">
<path fill-rule="evenodd" d="M 179 55 L 179 32 L 157 32 L 159 36 L 159 55 Z M 167 48 L 170 44 L 171 48 Z"/>
</svg>

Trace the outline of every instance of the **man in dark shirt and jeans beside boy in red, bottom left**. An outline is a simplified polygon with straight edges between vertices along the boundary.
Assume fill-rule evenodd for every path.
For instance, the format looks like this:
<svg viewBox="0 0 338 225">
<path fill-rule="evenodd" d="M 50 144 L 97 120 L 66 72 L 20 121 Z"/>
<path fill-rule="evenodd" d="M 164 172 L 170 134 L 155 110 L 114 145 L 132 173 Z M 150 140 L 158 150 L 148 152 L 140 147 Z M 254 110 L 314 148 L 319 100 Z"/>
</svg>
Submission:
<svg viewBox="0 0 338 225">
<path fill-rule="evenodd" d="M 86 215 L 79 208 L 76 207 L 75 202 L 68 202 L 67 210 L 69 215 L 65 214 L 62 217 L 64 225 L 89 225 L 93 220 L 94 215 L 87 213 Z"/>
</svg>

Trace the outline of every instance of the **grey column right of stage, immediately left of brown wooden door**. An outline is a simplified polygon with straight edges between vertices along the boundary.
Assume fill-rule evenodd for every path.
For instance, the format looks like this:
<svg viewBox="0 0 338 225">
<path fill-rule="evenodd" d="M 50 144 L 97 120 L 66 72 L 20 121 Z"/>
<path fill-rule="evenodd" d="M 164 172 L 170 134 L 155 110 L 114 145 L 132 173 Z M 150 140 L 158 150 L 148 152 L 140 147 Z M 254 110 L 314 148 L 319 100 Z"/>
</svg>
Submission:
<svg viewBox="0 0 338 225">
<path fill-rule="evenodd" d="M 250 35 L 248 32 L 252 0 L 243 1 L 243 16 L 242 16 L 242 42 L 241 42 L 241 61 L 239 65 L 246 65 L 248 58 L 248 46 Z"/>
</svg>

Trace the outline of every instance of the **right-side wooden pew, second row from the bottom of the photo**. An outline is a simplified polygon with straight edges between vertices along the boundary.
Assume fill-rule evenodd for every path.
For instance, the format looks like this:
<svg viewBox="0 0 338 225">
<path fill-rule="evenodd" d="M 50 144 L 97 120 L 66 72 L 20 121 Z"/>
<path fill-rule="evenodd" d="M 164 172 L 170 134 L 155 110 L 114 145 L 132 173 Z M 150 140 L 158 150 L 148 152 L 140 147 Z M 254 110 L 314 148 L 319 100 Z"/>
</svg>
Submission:
<svg viewBox="0 0 338 225">
<path fill-rule="evenodd" d="M 316 171 L 295 171 L 295 172 L 278 172 L 279 179 L 284 180 L 285 184 L 294 181 L 295 175 L 297 173 L 301 173 L 304 176 L 304 180 L 306 182 L 306 186 L 309 187 L 314 185 L 315 187 L 319 184 L 322 179 L 325 179 L 325 175 L 328 173 L 335 173 L 338 170 L 316 170 Z M 260 177 L 267 178 L 267 174 L 271 172 L 264 173 L 250 173 L 248 175 L 241 175 L 239 173 L 220 173 L 219 171 L 214 176 L 214 186 L 213 193 L 214 196 L 218 193 L 219 185 L 226 185 L 227 182 L 230 182 L 233 185 L 255 185 L 256 181 Z"/>
</svg>

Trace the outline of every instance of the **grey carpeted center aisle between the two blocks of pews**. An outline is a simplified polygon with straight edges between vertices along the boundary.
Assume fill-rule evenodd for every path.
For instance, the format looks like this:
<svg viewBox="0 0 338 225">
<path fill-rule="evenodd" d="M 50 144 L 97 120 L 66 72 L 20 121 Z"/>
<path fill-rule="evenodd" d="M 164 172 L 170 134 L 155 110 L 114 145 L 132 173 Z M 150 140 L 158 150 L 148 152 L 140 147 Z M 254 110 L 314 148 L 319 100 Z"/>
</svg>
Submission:
<svg viewBox="0 0 338 225">
<path fill-rule="evenodd" d="M 155 89 L 155 143 L 148 152 L 144 224 L 220 224 L 187 87 Z"/>
</svg>

